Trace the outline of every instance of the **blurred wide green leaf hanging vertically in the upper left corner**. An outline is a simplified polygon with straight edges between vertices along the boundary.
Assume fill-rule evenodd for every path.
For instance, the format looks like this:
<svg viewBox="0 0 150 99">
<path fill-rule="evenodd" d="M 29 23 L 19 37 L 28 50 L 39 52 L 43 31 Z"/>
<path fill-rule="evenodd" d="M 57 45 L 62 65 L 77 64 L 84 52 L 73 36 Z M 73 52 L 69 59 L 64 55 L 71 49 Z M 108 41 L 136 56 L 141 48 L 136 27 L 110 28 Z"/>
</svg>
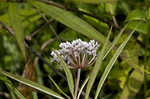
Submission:
<svg viewBox="0 0 150 99">
<path fill-rule="evenodd" d="M 17 43 L 21 49 L 23 56 L 25 57 L 24 31 L 21 16 L 19 15 L 18 4 L 9 3 L 8 15 L 9 15 L 9 22 L 13 28 Z"/>
</svg>

